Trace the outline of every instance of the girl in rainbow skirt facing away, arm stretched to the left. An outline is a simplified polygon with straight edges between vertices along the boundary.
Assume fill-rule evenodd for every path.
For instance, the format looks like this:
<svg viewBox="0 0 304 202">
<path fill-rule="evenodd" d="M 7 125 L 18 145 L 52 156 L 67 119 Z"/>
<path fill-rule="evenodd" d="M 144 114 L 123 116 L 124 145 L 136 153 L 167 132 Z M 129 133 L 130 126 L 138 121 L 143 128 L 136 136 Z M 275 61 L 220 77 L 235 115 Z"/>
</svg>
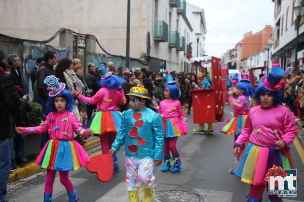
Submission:
<svg viewBox="0 0 304 202">
<path fill-rule="evenodd" d="M 126 103 L 122 86 L 123 78 L 113 76 L 106 70 L 104 64 L 99 64 L 99 73 L 102 75 L 99 85 L 101 88 L 93 97 L 86 97 L 78 91 L 72 91 L 74 96 L 89 105 L 97 104 L 97 113 L 88 121 L 87 126 L 93 134 L 99 134 L 102 154 L 107 154 L 121 127 L 122 115 L 118 105 Z M 114 172 L 119 172 L 118 158 L 113 155 Z"/>
</svg>

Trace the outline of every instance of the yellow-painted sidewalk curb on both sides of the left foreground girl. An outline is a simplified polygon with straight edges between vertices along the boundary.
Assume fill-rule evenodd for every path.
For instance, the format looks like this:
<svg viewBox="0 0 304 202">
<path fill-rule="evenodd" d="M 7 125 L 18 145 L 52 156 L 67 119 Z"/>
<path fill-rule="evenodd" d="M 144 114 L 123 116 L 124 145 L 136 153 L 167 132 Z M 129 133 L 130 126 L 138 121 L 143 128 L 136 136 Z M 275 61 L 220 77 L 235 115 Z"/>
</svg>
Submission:
<svg viewBox="0 0 304 202">
<path fill-rule="evenodd" d="M 87 150 L 89 150 L 89 149 L 91 149 L 95 146 L 98 146 L 99 144 L 100 144 L 100 139 L 96 138 L 96 139 L 93 139 L 91 141 L 88 141 L 83 147 L 87 151 Z M 27 164 L 25 166 L 20 167 L 18 170 L 14 171 L 10 174 L 9 183 L 14 182 L 14 181 L 16 181 L 18 179 L 21 179 L 21 178 L 28 177 L 28 176 L 33 175 L 35 173 L 39 173 L 42 170 L 43 169 L 39 168 L 37 166 L 37 164 L 35 164 L 34 162 L 30 163 L 30 164 Z"/>
</svg>

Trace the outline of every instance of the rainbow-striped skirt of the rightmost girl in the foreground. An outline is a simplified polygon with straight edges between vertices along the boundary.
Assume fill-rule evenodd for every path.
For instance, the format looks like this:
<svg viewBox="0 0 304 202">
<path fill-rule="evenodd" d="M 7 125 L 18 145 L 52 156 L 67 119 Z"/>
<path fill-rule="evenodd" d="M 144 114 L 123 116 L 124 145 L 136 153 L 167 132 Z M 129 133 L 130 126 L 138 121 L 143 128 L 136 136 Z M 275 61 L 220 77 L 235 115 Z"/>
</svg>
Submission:
<svg viewBox="0 0 304 202">
<path fill-rule="evenodd" d="M 240 156 L 235 175 L 248 184 L 265 185 L 264 179 L 273 165 L 295 169 L 290 151 L 286 150 L 284 154 L 278 147 L 262 147 L 249 142 Z"/>
</svg>

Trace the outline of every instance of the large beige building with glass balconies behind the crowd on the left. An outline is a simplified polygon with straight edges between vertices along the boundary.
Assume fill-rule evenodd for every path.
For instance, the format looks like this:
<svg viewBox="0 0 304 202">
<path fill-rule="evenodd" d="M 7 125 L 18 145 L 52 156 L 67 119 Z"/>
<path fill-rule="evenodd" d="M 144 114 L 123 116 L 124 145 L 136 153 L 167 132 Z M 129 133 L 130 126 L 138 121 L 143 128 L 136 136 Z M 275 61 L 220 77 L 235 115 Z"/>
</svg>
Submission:
<svg viewBox="0 0 304 202">
<path fill-rule="evenodd" d="M 54 9 L 54 5 L 60 6 Z M 184 0 L 131 1 L 130 57 L 140 60 L 150 70 L 183 71 L 187 62 L 187 44 L 193 40 L 192 30 L 196 26 L 187 19 L 186 7 Z M 3 34 L 46 40 L 61 28 L 66 28 L 74 36 L 76 33 L 95 36 L 106 51 L 95 44 L 96 53 L 126 56 L 125 0 L 115 3 L 105 0 L 54 0 L 43 4 L 38 0 L 12 0 L 3 1 L 0 13 L 3 25 L 0 32 Z M 199 21 L 204 22 L 205 19 Z M 75 47 L 79 38 L 74 38 L 71 48 Z M 59 46 L 59 37 L 48 44 Z M 90 60 L 86 58 L 86 62 L 92 62 Z"/>
</svg>

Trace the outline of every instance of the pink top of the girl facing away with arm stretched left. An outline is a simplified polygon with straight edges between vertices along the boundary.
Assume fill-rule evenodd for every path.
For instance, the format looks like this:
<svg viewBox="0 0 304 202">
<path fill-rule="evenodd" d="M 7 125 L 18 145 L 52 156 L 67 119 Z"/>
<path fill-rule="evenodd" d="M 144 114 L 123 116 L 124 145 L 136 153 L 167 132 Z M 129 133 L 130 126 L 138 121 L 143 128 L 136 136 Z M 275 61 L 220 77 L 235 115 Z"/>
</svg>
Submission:
<svg viewBox="0 0 304 202">
<path fill-rule="evenodd" d="M 97 103 L 98 111 L 118 111 L 118 105 L 126 103 L 125 93 L 122 88 L 114 90 L 102 87 L 93 97 L 86 97 L 82 94 L 78 94 L 77 97 L 90 105 Z"/>
</svg>

